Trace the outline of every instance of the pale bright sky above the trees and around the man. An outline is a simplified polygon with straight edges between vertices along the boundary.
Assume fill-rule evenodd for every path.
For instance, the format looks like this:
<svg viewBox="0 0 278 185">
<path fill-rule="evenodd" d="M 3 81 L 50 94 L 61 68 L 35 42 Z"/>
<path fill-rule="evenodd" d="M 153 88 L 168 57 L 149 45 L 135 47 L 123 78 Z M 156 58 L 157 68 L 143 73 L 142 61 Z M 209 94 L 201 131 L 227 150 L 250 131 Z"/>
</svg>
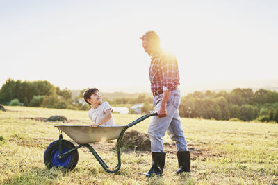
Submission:
<svg viewBox="0 0 278 185">
<path fill-rule="evenodd" d="M 148 92 L 147 30 L 177 56 L 184 91 L 278 86 L 278 1 L 0 0 L 0 87 Z"/>
</svg>

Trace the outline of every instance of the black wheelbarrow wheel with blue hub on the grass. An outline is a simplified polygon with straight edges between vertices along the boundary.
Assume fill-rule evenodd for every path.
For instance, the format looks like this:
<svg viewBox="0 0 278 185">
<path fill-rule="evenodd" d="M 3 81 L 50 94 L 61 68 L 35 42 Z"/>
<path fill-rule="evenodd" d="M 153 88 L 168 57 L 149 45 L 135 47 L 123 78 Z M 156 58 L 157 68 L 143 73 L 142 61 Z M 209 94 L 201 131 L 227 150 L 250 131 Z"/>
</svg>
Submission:
<svg viewBox="0 0 278 185">
<path fill-rule="evenodd" d="M 74 148 L 74 144 L 67 140 L 62 140 L 62 152 L 67 152 Z M 47 146 L 44 151 L 44 164 L 47 168 L 60 167 L 67 169 L 74 169 L 79 160 L 79 154 L 77 149 L 65 155 L 62 159 L 59 159 L 59 140 L 54 141 Z"/>
</svg>

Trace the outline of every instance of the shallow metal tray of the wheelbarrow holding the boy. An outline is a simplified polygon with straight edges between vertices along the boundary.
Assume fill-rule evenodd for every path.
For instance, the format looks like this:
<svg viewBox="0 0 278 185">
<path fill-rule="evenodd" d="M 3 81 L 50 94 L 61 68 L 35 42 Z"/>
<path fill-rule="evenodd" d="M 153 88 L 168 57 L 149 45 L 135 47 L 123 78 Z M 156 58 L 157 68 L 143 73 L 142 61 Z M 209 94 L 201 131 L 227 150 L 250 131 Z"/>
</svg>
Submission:
<svg viewBox="0 0 278 185">
<path fill-rule="evenodd" d="M 118 139 L 128 125 L 90 127 L 90 125 L 54 125 L 78 144 Z"/>
</svg>

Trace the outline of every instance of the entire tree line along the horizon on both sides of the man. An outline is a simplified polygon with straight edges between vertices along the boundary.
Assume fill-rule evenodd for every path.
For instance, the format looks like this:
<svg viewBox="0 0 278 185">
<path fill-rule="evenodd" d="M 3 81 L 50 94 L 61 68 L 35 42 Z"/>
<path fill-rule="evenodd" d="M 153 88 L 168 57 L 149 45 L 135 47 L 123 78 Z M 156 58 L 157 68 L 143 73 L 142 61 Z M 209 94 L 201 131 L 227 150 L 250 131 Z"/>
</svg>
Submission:
<svg viewBox="0 0 278 185">
<path fill-rule="evenodd" d="M 46 80 L 24 81 L 8 79 L 0 89 L 0 103 L 3 105 L 23 105 L 29 107 L 48 107 L 57 109 L 90 109 L 79 97 L 72 98 L 72 91 L 60 89 Z M 140 94 L 138 98 L 116 98 L 104 100 L 111 105 L 133 105 L 144 103 L 143 113 L 153 109 L 152 97 Z M 181 117 L 206 118 L 215 120 L 241 120 L 278 123 L 278 92 L 265 89 L 233 89 L 227 91 L 195 91 L 181 98 L 179 106 Z"/>
</svg>

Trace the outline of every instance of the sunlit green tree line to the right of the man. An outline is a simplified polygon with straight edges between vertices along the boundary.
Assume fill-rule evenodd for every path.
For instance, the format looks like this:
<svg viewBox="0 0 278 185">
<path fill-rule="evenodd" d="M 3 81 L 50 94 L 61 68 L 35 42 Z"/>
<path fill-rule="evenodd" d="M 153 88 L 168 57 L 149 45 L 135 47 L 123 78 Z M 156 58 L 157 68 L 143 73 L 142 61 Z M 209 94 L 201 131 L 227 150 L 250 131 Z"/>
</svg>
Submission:
<svg viewBox="0 0 278 185">
<path fill-rule="evenodd" d="M 188 118 L 241 120 L 278 123 L 278 93 L 259 89 L 231 92 L 195 91 L 181 98 L 180 115 Z"/>
</svg>

